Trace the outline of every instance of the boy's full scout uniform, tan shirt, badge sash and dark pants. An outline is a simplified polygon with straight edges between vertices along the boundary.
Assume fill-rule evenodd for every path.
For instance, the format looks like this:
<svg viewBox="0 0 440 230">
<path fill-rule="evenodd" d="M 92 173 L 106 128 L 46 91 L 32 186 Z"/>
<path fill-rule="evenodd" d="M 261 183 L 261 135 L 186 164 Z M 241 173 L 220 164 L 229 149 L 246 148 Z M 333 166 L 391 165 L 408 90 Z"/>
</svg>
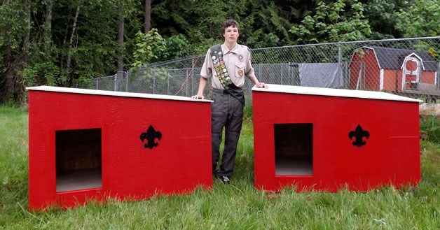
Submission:
<svg viewBox="0 0 440 230">
<path fill-rule="evenodd" d="M 245 85 L 245 77 L 255 77 L 249 49 L 239 44 L 236 44 L 233 50 L 228 50 L 225 44 L 214 45 L 207 51 L 200 76 L 211 78 L 213 88 L 212 171 L 218 176 L 231 176 L 245 106 L 242 86 Z M 225 146 L 221 166 L 217 168 L 223 127 Z"/>
</svg>

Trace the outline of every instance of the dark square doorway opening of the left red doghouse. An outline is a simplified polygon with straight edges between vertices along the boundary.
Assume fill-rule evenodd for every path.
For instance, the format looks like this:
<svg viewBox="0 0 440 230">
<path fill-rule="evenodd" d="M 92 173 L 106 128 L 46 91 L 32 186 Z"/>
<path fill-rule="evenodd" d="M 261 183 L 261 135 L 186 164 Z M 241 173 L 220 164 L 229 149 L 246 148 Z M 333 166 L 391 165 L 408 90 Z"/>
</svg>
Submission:
<svg viewBox="0 0 440 230">
<path fill-rule="evenodd" d="M 102 187 L 101 129 L 55 131 L 57 192 Z"/>
</svg>

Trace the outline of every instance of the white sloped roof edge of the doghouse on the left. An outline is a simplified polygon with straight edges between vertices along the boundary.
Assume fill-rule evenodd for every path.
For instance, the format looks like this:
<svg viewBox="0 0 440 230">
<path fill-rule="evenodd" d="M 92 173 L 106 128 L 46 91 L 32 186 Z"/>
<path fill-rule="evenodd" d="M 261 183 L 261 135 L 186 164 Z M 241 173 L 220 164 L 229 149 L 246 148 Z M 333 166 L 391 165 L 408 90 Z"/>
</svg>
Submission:
<svg viewBox="0 0 440 230">
<path fill-rule="evenodd" d="M 97 90 L 97 89 L 77 89 L 68 87 L 54 87 L 54 86 L 36 86 L 36 87 L 26 87 L 27 90 L 35 91 L 47 91 L 47 92 L 61 92 L 70 94 L 90 94 L 90 95 L 103 95 L 103 96 L 125 96 L 125 97 L 136 97 L 144 99 L 163 99 L 163 100 L 175 100 L 175 101 L 195 101 L 195 102 L 214 102 L 206 99 L 191 99 L 191 97 L 186 96 L 172 96 L 172 95 L 162 95 L 162 94 L 141 94 L 133 92 L 117 92 L 108 90 Z"/>
</svg>

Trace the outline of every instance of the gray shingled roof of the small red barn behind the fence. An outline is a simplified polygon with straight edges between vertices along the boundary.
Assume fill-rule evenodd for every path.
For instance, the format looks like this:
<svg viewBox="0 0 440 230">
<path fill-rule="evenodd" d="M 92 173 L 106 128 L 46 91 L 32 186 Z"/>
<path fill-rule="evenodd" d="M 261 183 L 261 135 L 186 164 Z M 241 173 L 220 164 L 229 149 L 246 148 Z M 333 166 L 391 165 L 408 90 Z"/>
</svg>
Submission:
<svg viewBox="0 0 440 230">
<path fill-rule="evenodd" d="M 438 63 L 432 58 L 432 55 L 426 51 L 385 48 L 380 46 L 364 46 L 364 48 L 374 50 L 380 69 L 401 69 L 405 57 L 411 54 L 415 54 L 422 59 L 423 70 L 437 71 L 439 68 Z"/>
</svg>

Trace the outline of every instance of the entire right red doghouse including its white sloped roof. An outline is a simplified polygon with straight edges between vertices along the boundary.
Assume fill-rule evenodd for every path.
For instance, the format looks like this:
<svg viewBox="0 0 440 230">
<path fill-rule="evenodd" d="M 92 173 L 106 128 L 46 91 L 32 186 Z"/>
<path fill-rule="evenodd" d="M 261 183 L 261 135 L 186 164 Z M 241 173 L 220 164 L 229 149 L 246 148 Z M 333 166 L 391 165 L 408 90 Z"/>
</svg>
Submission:
<svg viewBox="0 0 440 230">
<path fill-rule="evenodd" d="M 417 185 L 419 102 L 385 92 L 254 87 L 255 187 L 334 192 Z"/>
</svg>

